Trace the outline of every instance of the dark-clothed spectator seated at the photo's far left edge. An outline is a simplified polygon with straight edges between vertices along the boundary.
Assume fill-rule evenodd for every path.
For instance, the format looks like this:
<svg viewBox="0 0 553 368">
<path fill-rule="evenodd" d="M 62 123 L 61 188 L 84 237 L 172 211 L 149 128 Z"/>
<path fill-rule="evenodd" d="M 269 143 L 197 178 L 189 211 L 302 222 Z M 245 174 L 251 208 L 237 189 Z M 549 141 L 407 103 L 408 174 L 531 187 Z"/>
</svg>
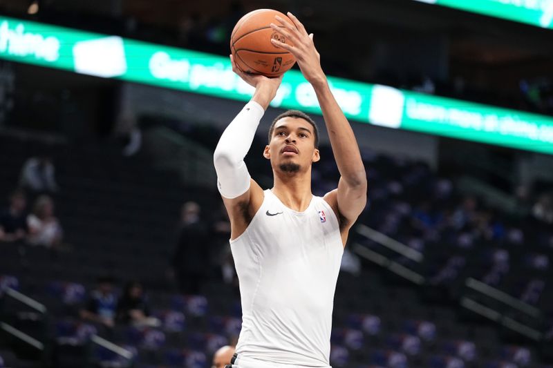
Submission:
<svg viewBox="0 0 553 368">
<path fill-rule="evenodd" d="M 10 195 L 10 206 L 0 213 L 0 242 L 23 240 L 28 233 L 25 207 L 27 200 L 21 190 Z"/>
</svg>

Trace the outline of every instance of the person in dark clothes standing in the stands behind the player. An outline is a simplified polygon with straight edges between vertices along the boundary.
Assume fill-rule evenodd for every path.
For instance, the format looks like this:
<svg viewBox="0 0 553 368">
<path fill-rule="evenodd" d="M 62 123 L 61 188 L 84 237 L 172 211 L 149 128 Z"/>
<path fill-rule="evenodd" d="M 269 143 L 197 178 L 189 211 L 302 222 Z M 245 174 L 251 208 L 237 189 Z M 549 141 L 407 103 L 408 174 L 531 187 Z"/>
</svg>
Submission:
<svg viewBox="0 0 553 368">
<path fill-rule="evenodd" d="M 182 206 L 178 243 L 173 258 L 173 268 L 181 293 L 200 293 L 201 282 L 209 269 L 207 227 L 200 219 L 200 206 L 186 202 Z"/>
</svg>

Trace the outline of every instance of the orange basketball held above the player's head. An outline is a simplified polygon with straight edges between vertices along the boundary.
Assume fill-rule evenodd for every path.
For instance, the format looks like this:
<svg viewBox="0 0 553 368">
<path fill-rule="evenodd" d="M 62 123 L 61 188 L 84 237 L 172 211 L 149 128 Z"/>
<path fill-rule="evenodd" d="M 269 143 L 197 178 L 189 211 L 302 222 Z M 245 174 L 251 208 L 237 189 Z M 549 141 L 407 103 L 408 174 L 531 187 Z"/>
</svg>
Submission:
<svg viewBox="0 0 553 368">
<path fill-rule="evenodd" d="M 245 14 L 234 26 L 230 37 L 230 50 L 236 66 L 243 72 L 279 77 L 292 68 L 296 59 L 290 52 L 274 46 L 271 39 L 293 45 L 289 39 L 273 30 L 271 23 L 283 27 L 275 15 L 285 22 L 294 23 L 285 14 L 271 9 L 259 9 Z"/>
</svg>

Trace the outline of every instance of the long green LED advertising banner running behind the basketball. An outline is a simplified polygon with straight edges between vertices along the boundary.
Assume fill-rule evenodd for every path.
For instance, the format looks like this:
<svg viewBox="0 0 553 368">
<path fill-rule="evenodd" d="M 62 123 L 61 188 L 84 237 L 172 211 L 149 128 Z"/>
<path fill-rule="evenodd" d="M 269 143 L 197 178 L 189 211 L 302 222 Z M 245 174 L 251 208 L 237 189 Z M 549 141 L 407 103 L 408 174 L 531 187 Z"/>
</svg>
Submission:
<svg viewBox="0 0 553 368">
<path fill-rule="evenodd" d="M 247 101 L 229 59 L 203 52 L 0 17 L 0 58 L 104 78 Z M 553 154 L 553 117 L 328 77 L 358 122 Z M 272 106 L 321 114 L 301 72 L 286 72 Z"/>
</svg>

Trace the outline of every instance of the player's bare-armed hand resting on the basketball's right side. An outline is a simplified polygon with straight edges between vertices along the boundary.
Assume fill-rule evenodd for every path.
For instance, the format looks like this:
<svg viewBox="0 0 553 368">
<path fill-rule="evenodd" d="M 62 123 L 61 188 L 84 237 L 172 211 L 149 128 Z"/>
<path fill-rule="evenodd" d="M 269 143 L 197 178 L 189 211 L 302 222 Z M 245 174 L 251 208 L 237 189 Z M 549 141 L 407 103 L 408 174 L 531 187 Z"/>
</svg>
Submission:
<svg viewBox="0 0 553 368">
<path fill-rule="evenodd" d="M 315 84 L 324 83 L 326 76 L 321 68 L 321 55 L 319 55 L 315 43 L 313 43 L 313 34 L 308 34 L 303 24 L 291 12 L 288 12 L 288 18 L 294 23 L 294 26 L 277 15 L 275 19 L 279 22 L 279 25 L 271 23 L 271 28 L 286 39 L 290 39 L 294 46 L 274 38 L 271 38 L 271 42 L 274 46 L 283 48 L 294 55 L 303 77 L 306 77 L 310 84 L 315 86 Z"/>
</svg>

